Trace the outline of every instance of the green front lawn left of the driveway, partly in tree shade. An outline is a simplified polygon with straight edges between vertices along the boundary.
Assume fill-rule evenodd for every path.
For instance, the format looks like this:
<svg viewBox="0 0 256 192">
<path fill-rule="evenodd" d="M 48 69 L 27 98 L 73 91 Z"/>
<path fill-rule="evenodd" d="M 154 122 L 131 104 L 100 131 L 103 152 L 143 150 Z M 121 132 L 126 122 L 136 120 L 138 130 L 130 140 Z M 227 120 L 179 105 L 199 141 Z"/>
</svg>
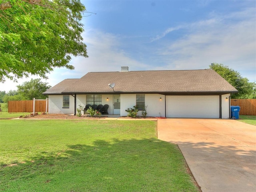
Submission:
<svg viewBox="0 0 256 192">
<path fill-rule="evenodd" d="M 0 191 L 197 192 L 156 122 L 0 120 Z"/>
</svg>

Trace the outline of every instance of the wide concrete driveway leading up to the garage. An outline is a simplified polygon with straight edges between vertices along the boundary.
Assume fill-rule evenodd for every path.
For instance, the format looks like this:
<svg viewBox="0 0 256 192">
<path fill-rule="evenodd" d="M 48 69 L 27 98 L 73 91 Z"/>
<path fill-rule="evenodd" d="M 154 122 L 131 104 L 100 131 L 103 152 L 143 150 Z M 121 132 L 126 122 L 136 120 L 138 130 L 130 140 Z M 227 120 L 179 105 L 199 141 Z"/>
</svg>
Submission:
<svg viewBox="0 0 256 192">
<path fill-rule="evenodd" d="M 256 192 L 256 126 L 224 119 L 158 119 L 202 192 Z"/>
</svg>

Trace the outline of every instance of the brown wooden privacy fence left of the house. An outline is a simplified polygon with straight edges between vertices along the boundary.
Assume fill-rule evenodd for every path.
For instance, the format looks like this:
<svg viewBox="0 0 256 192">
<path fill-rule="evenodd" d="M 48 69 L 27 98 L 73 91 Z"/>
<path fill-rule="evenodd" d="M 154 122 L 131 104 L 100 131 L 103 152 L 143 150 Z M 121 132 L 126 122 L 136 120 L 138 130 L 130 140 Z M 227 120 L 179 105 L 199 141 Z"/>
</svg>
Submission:
<svg viewBox="0 0 256 192">
<path fill-rule="evenodd" d="M 36 112 L 45 112 L 46 111 L 46 100 L 36 100 L 35 101 L 35 111 Z M 48 111 L 48 107 L 47 107 L 47 111 Z M 8 101 L 8 112 L 9 113 L 33 112 L 33 100 Z"/>
</svg>

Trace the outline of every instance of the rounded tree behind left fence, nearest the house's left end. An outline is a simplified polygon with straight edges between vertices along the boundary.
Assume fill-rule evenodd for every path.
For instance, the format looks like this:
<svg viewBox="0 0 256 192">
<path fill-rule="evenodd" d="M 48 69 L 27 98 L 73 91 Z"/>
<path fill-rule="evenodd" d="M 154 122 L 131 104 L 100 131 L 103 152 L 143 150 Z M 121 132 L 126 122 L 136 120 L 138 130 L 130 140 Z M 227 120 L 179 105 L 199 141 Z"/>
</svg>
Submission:
<svg viewBox="0 0 256 192">
<path fill-rule="evenodd" d="M 51 86 L 48 83 L 41 82 L 41 79 L 31 79 L 24 82 L 22 85 L 18 85 L 18 94 L 25 100 L 45 99 L 46 96 L 42 93 L 50 89 Z"/>
</svg>

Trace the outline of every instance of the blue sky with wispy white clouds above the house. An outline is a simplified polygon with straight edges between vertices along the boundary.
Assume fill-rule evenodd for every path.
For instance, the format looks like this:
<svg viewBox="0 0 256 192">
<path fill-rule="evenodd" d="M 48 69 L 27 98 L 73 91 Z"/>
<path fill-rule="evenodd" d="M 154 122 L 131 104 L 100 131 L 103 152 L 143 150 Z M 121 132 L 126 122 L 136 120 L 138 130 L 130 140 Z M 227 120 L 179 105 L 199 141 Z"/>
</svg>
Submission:
<svg viewBox="0 0 256 192">
<path fill-rule="evenodd" d="M 88 72 L 207 69 L 221 63 L 256 82 L 255 0 L 81 0 L 82 37 L 89 58 L 75 69 L 56 68 L 48 85 Z M 92 13 L 95 14 L 92 14 Z M 17 90 L 31 78 L 6 80 L 0 91 Z M 108 82 L 107 82 L 108 83 Z"/>
</svg>

